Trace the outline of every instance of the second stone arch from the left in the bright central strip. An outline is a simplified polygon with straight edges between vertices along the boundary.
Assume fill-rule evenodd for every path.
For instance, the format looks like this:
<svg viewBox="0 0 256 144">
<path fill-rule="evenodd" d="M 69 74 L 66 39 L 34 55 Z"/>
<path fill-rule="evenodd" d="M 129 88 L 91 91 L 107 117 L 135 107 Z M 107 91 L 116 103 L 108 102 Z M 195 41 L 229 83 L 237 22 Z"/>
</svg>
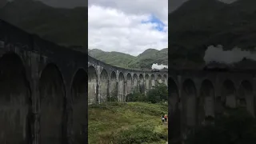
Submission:
<svg viewBox="0 0 256 144">
<path fill-rule="evenodd" d="M 100 102 L 106 102 L 108 95 L 108 74 L 105 69 L 100 74 L 99 99 Z"/>
</svg>

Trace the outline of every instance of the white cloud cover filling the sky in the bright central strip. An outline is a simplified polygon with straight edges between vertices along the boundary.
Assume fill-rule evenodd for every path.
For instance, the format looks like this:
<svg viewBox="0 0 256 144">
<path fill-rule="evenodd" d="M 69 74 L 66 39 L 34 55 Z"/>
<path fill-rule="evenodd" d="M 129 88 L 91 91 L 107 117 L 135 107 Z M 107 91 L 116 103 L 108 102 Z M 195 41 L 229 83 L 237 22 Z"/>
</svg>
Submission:
<svg viewBox="0 0 256 144">
<path fill-rule="evenodd" d="M 89 48 L 138 55 L 168 43 L 167 0 L 94 0 L 88 8 Z M 152 14 L 163 22 L 152 22 Z"/>
</svg>

